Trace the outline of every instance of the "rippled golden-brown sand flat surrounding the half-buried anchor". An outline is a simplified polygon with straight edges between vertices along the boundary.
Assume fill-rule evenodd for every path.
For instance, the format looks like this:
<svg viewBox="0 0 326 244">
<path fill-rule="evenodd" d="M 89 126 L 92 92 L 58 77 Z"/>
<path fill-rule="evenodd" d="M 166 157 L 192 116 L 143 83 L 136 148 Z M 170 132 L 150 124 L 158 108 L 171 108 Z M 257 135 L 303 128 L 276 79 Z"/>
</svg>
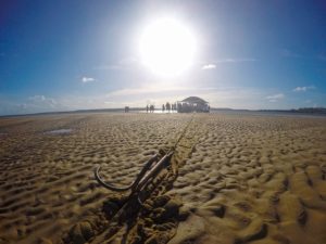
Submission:
<svg viewBox="0 0 326 244">
<path fill-rule="evenodd" d="M 186 127 L 175 177 L 162 176 L 137 218 L 109 240 L 108 213 L 127 193 L 102 188 L 93 170 L 126 185 Z M 325 117 L 3 117 L 0 243 L 326 243 L 325 145 Z"/>
</svg>

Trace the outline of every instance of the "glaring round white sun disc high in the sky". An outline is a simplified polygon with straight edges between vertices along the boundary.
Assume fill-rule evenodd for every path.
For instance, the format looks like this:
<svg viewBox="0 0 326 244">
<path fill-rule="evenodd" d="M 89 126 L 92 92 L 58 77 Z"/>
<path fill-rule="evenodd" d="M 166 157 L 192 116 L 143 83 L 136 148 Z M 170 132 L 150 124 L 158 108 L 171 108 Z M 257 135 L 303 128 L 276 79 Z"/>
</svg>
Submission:
<svg viewBox="0 0 326 244">
<path fill-rule="evenodd" d="M 163 76 L 175 76 L 187 69 L 196 51 L 191 31 L 174 18 L 161 18 L 147 26 L 139 46 L 142 63 Z"/>
</svg>

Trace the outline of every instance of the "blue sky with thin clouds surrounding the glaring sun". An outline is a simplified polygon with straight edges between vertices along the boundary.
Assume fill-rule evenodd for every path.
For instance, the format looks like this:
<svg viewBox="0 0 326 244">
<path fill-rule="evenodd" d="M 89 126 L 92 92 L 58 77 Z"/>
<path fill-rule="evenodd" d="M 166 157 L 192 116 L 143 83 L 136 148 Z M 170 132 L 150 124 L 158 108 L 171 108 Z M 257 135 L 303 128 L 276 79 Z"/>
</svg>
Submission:
<svg viewBox="0 0 326 244">
<path fill-rule="evenodd" d="M 191 65 L 160 76 L 139 39 L 160 17 L 196 38 Z M 326 2 L 177 0 L 0 2 L 0 115 L 161 107 L 326 106 Z"/>
</svg>

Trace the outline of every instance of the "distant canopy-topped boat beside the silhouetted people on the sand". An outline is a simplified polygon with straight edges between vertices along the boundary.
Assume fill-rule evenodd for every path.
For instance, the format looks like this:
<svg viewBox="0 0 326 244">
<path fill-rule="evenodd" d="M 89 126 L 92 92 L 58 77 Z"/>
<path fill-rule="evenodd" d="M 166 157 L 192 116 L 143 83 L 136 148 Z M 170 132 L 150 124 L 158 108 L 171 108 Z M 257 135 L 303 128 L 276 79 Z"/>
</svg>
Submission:
<svg viewBox="0 0 326 244">
<path fill-rule="evenodd" d="M 209 102 L 198 97 L 189 97 L 177 102 L 178 113 L 210 113 Z"/>
</svg>

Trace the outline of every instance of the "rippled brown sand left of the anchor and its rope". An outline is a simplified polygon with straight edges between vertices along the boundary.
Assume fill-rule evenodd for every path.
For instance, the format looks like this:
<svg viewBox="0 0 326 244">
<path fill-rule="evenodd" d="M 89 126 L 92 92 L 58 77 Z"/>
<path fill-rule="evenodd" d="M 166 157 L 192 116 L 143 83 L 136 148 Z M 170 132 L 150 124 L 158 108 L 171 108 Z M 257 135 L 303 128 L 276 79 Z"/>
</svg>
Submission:
<svg viewBox="0 0 326 244">
<path fill-rule="evenodd" d="M 97 165 L 114 183 L 131 182 L 153 153 L 171 146 L 187 117 L 75 114 L 1 119 L 0 243 L 59 242 L 61 233 L 101 209 L 111 194 L 93 178 Z M 47 132 L 66 128 L 70 133 Z"/>
</svg>

